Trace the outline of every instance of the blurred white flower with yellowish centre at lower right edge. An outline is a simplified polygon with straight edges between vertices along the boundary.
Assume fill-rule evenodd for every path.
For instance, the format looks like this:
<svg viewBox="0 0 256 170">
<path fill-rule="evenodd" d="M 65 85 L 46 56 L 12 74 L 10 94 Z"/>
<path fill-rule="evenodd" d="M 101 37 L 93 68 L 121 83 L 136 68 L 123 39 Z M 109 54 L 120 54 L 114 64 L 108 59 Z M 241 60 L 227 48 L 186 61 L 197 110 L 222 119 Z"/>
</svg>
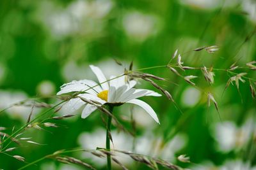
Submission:
<svg viewBox="0 0 256 170">
<path fill-rule="evenodd" d="M 241 127 L 234 122 L 220 122 L 215 125 L 214 138 L 218 143 L 218 149 L 222 152 L 240 150 L 245 146 L 256 131 L 255 120 L 248 118 Z"/>
</svg>

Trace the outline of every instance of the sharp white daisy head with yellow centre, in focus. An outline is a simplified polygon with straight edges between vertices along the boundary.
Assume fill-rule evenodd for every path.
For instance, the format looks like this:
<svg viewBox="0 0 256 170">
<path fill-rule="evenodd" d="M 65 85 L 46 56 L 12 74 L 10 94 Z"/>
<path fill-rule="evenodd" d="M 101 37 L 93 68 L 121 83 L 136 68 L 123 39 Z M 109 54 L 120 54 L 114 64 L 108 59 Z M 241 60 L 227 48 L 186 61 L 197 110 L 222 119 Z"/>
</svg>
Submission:
<svg viewBox="0 0 256 170">
<path fill-rule="evenodd" d="M 100 85 L 92 80 L 75 80 L 62 85 L 57 95 L 70 92 L 84 92 L 83 94 L 77 95 L 77 98 L 70 99 L 70 101 L 63 106 L 66 112 L 73 113 L 84 107 L 81 117 L 86 118 L 97 109 L 97 106 L 85 103 L 79 97 L 109 106 L 120 106 L 124 103 L 131 103 L 143 108 L 159 124 L 156 112 L 147 103 L 137 98 L 143 96 L 161 96 L 161 94 L 152 90 L 134 89 L 133 87 L 136 85 L 136 81 L 131 80 L 126 83 L 125 76 L 111 76 L 110 81 L 107 81 L 99 67 L 92 65 L 90 65 L 90 67 L 97 76 Z"/>
</svg>

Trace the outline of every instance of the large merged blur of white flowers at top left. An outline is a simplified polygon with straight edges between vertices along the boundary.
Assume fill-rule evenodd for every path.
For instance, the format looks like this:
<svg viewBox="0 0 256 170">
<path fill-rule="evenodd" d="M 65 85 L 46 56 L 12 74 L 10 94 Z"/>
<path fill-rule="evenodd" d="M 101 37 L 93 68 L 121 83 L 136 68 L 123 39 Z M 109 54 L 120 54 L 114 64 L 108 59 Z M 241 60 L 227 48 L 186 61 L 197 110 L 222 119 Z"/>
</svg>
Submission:
<svg viewBox="0 0 256 170">
<path fill-rule="evenodd" d="M 102 34 L 105 17 L 113 8 L 111 0 L 76 0 L 61 7 L 54 1 L 41 1 L 36 10 L 36 20 L 44 24 L 52 37 L 61 39 L 79 33 L 87 39 Z"/>
</svg>

